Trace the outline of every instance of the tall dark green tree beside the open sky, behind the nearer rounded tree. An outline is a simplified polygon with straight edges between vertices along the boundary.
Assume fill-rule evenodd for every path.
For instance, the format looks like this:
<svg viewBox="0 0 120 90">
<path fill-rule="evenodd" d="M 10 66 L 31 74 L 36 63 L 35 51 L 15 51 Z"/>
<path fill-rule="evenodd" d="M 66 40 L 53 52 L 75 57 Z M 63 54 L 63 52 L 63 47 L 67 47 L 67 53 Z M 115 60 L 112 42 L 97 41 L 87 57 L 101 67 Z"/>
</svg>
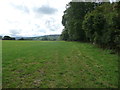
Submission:
<svg viewBox="0 0 120 90">
<path fill-rule="evenodd" d="M 62 33 L 64 35 L 62 36 L 68 36 L 67 40 L 71 41 L 85 41 L 86 35 L 85 31 L 82 29 L 82 22 L 84 20 L 84 16 L 88 12 L 94 10 L 96 5 L 96 3 L 90 2 L 70 2 L 67 5 L 67 8 L 64 11 L 64 15 L 62 17 L 62 24 L 65 27 Z"/>
</svg>

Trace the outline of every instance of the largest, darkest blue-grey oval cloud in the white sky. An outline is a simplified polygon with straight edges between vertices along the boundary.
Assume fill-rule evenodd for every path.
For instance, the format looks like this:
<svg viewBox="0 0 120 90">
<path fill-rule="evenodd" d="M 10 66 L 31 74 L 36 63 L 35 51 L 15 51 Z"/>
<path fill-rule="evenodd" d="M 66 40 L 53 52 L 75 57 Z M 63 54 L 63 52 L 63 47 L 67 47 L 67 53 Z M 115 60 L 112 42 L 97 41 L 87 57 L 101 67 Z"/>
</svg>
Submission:
<svg viewBox="0 0 120 90">
<path fill-rule="evenodd" d="M 43 5 L 40 8 L 35 8 L 34 9 L 35 12 L 40 13 L 40 14 L 54 14 L 56 13 L 58 10 L 56 8 L 52 8 L 50 6 L 45 6 Z"/>
</svg>

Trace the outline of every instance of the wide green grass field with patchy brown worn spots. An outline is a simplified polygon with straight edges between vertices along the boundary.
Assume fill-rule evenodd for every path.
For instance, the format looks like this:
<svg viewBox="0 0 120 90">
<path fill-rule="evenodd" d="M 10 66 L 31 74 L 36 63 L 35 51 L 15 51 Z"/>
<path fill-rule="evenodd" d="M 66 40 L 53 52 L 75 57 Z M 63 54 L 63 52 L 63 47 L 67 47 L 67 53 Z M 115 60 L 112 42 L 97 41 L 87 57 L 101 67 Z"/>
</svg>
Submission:
<svg viewBox="0 0 120 90">
<path fill-rule="evenodd" d="M 117 88 L 118 56 L 88 43 L 3 41 L 3 88 Z"/>
</svg>

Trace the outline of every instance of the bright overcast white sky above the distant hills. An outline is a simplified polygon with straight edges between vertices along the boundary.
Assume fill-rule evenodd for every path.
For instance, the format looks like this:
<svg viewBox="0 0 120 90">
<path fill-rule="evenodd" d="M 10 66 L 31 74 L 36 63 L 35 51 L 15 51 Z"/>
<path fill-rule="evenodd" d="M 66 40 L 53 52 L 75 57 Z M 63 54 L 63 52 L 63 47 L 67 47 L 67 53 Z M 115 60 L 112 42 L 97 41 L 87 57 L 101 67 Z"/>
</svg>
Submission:
<svg viewBox="0 0 120 90">
<path fill-rule="evenodd" d="M 61 34 L 63 11 L 71 0 L 0 0 L 0 35 Z"/>
</svg>

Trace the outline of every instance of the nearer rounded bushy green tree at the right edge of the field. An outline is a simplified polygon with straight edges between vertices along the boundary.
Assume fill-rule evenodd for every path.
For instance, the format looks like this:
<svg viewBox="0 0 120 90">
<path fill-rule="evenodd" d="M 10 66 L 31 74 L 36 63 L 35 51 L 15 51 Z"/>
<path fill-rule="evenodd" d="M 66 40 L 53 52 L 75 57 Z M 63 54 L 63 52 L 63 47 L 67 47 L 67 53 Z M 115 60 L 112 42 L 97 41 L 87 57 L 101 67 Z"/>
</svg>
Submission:
<svg viewBox="0 0 120 90">
<path fill-rule="evenodd" d="M 120 49 L 119 3 L 104 3 L 85 15 L 82 28 L 87 40 L 101 47 Z"/>
</svg>

